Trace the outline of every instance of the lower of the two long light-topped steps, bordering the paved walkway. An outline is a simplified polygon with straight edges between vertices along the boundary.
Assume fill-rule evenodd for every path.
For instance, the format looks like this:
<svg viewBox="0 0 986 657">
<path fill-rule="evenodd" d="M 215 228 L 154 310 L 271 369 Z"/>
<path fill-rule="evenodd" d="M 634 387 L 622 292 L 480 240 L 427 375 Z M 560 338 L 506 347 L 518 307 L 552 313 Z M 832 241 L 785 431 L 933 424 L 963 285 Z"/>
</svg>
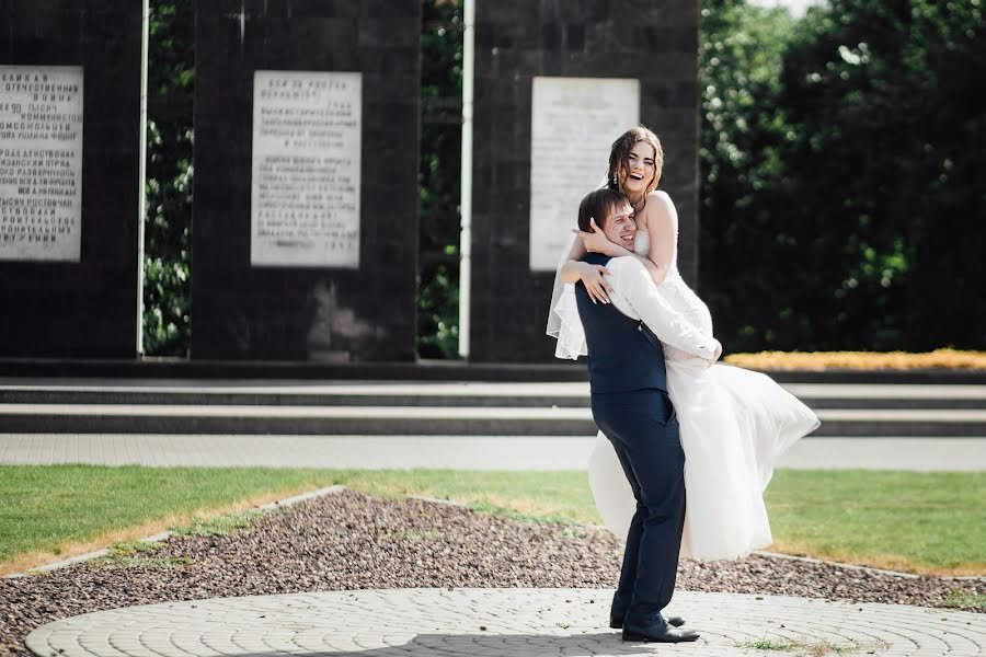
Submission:
<svg viewBox="0 0 986 657">
<path fill-rule="evenodd" d="M 986 411 L 818 410 L 825 436 L 986 436 Z M 298 434 L 575 436 L 585 407 L 3 404 L 0 434 Z"/>
</svg>

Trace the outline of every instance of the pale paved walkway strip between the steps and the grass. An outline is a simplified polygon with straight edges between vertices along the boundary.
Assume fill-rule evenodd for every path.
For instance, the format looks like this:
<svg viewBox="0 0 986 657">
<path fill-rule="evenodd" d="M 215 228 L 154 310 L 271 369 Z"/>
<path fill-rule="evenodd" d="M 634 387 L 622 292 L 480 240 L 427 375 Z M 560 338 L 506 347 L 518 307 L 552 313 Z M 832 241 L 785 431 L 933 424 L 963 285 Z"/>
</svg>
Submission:
<svg viewBox="0 0 986 657">
<path fill-rule="evenodd" d="M 227 436 L 0 434 L 0 465 L 583 470 L 585 436 Z M 818 438 L 781 468 L 986 471 L 986 438 Z"/>
</svg>

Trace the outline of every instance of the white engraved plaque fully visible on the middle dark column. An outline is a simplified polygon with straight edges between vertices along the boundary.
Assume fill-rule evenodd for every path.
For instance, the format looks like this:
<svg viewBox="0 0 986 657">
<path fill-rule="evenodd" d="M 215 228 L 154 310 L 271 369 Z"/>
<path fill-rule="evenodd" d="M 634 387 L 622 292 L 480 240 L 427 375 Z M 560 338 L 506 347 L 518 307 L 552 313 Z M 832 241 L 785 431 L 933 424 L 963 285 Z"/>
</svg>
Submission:
<svg viewBox="0 0 986 657">
<path fill-rule="evenodd" d="M 252 265 L 359 267 L 362 73 L 255 71 Z"/>
</svg>

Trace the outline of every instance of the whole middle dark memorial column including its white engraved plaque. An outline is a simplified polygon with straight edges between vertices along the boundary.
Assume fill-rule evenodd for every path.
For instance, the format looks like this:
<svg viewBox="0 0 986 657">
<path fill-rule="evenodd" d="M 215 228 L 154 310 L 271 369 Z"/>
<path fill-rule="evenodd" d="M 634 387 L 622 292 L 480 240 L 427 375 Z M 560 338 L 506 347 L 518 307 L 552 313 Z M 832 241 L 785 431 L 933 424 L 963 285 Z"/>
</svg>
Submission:
<svg viewBox="0 0 986 657">
<path fill-rule="evenodd" d="M 419 0 L 196 7 L 192 358 L 413 360 Z"/>
</svg>

